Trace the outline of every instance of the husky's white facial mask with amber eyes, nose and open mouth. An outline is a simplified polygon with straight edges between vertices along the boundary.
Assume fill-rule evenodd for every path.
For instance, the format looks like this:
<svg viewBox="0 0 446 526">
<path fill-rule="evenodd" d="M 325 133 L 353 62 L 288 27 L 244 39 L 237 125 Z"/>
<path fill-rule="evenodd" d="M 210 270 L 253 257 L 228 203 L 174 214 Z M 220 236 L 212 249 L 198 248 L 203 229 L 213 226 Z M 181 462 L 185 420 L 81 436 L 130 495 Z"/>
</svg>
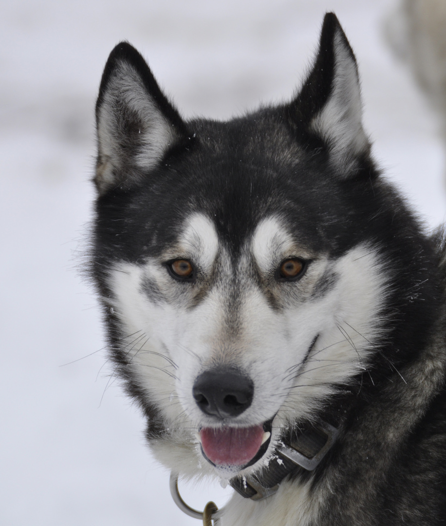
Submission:
<svg viewBox="0 0 446 526">
<path fill-rule="evenodd" d="M 180 435 L 229 478 L 263 462 L 288 428 L 366 369 L 385 281 L 370 247 L 331 258 L 275 217 L 237 258 L 208 217 L 186 223 L 159 256 L 115 263 L 109 304 L 128 372 L 162 415 L 165 439 Z"/>
</svg>

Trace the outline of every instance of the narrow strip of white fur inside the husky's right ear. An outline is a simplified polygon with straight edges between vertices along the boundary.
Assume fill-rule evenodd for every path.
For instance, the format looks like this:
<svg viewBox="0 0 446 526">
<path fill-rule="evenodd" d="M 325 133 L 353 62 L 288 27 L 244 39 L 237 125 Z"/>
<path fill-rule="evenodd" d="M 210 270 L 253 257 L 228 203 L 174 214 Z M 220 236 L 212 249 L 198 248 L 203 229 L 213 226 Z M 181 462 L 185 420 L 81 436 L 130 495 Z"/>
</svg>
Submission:
<svg viewBox="0 0 446 526">
<path fill-rule="evenodd" d="M 344 164 L 346 156 L 356 156 L 368 148 L 362 128 L 362 103 L 358 70 L 350 50 L 337 31 L 333 48 L 335 73 L 326 105 L 313 119 L 311 128 L 327 140 L 335 164 Z"/>
</svg>

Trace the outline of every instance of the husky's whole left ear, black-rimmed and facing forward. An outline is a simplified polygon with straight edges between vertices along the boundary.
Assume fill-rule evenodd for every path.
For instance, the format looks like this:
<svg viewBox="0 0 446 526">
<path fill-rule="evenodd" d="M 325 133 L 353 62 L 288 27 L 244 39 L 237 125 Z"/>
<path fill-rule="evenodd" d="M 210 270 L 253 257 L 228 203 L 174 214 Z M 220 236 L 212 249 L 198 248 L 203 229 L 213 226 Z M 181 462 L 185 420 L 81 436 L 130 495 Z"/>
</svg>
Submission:
<svg viewBox="0 0 446 526">
<path fill-rule="evenodd" d="M 144 58 L 127 42 L 108 57 L 96 103 L 99 194 L 127 188 L 187 140 L 186 126 Z"/>
</svg>

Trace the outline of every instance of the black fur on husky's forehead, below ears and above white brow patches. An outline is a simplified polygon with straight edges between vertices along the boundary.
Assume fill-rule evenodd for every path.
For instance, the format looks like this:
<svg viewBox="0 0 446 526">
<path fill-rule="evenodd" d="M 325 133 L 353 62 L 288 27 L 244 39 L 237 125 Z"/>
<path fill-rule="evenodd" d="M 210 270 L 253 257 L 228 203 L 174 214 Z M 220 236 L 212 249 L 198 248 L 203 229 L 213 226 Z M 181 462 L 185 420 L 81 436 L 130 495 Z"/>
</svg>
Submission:
<svg viewBox="0 0 446 526">
<path fill-rule="evenodd" d="M 370 177 L 376 175 L 371 163 L 362 168 L 369 177 L 348 184 L 333 178 L 323 151 L 296 143 L 276 109 L 188 126 L 195 142 L 187 151 L 166 156 L 137 187 L 99 197 L 98 227 L 104 228 L 97 232 L 109 238 L 113 254 L 117 239 L 126 247 L 120 257 L 134 261 L 158 254 L 180 238 L 196 212 L 214 222 L 232 252 L 270 215 L 313 250 L 343 251 L 350 245 L 335 235 L 339 225 L 333 221 L 339 215 L 346 221 L 366 217 L 362 205 L 370 207 Z M 351 199 L 358 205 L 353 209 Z"/>
</svg>

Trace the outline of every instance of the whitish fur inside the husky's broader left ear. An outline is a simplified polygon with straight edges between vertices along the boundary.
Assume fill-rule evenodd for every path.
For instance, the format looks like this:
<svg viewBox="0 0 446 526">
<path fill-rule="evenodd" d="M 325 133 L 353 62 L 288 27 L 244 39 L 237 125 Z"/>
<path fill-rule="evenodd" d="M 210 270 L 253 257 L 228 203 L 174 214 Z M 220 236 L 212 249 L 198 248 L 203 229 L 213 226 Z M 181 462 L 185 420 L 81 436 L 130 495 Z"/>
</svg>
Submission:
<svg viewBox="0 0 446 526">
<path fill-rule="evenodd" d="M 125 139 L 122 123 L 131 120 L 132 115 L 141 123 L 141 146 L 134 159 L 128 159 L 120 145 Z M 147 93 L 135 69 L 121 61 L 109 79 L 99 108 L 98 150 L 104 158 L 101 180 L 105 184 L 113 183 L 114 168 L 121 169 L 124 163 L 142 169 L 153 168 L 174 137 L 173 127 Z"/>
</svg>

